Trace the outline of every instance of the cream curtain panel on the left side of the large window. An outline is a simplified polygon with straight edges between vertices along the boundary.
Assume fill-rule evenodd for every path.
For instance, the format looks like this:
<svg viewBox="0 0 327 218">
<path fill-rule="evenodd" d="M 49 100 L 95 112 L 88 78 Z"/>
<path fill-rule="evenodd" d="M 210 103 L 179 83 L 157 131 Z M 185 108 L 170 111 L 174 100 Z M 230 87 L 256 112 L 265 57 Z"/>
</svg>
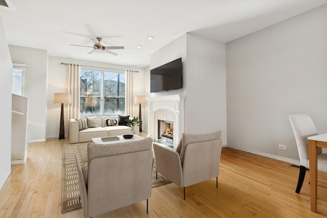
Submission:
<svg viewBox="0 0 327 218">
<path fill-rule="evenodd" d="M 68 120 L 80 117 L 80 69 L 80 64 L 68 64 L 68 93 L 72 96 L 72 104 L 68 105 Z"/>
</svg>

